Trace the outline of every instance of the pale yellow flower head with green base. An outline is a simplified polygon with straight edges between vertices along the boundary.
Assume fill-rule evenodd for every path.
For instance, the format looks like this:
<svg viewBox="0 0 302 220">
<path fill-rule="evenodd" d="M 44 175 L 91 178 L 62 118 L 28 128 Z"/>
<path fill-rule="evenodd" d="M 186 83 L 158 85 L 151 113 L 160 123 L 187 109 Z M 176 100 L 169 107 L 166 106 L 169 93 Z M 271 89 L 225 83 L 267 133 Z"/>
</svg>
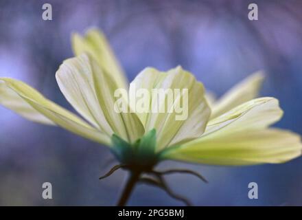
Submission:
<svg viewBox="0 0 302 220">
<path fill-rule="evenodd" d="M 154 165 L 164 159 L 240 166 L 281 163 L 301 155 L 299 135 L 269 128 L 283 111 L 276 98 L 256 98 L 262 73 L 251 75 L 214 100 L 181 67 L 167 72 L 148 67 L 129 85 L 104 34 L 97 30 L 89 30 L 85 36 L 73 34 L 72 45 L 75 57 L 60 65 L 56 80 L 84 120 L 11 78 L 0 78 L 0 103 L 28 120 L 58 125 L 109 146 L 121 166 L 139 173 L 154 171 Z M 113 94 L 119 88 L 188 89 L 187 118 L 176 120 L 175 111 L 114 111 Z M 176 99 L 182 98 L 178 93 Z M 159 102 L 161 106 L 165 100 Z"/>
</svg>

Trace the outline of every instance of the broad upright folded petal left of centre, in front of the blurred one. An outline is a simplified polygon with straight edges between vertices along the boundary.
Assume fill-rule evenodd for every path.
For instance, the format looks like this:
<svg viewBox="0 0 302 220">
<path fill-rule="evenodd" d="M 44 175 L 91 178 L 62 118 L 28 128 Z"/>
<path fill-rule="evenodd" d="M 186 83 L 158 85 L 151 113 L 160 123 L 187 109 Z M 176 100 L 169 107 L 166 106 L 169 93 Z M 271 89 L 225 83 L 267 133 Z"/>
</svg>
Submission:
<svg viewBox="0 0 302 220">
<path fill-rule="evenodd" d="M 116 133 L 129 142 L 143 135 L 143 125 L 135 113 L 115 111 L 114 94 L 118 87 L 93 58 L 82 54 L 68 59 L 60 66 L 56 78 L 71 105 L 104 133 Z"/>
</svg>

